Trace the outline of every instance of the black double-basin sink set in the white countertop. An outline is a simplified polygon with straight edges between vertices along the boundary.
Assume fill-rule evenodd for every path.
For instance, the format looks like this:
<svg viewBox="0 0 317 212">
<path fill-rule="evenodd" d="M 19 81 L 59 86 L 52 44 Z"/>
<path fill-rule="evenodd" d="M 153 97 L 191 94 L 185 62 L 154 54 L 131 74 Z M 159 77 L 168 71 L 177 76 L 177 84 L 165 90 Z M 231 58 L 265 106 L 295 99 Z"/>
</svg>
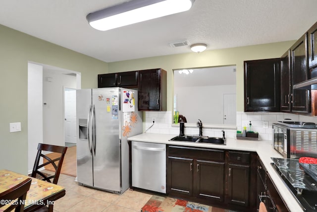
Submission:
<svg viewBox="0 0 317 212">
<path fill-rule="evenodd" d="M 225 138 L 216 138 L 216 137 L 208 137 L 208 136 L 176 136 L 169 141 L 188 141 L 188 142 L 196 142 L 196 143 L 212 143 L 212 144 L 226 144 Z"/>
</svg>

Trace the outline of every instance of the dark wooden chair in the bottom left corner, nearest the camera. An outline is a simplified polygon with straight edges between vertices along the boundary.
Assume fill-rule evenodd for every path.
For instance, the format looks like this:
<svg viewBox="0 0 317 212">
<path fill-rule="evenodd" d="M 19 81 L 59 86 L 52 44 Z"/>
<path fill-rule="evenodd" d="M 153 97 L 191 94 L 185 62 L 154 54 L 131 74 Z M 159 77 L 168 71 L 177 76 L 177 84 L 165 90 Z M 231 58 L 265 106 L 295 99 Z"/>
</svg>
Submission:
<svg viewBox="0 0 317 212">
<path fill-rule="evenodd" d="M 6 190 L 0 194 L 0 211 L 1 207 L 5 206 L 6 201 L 17 201 L 17 204 L 11 204 L 7 209 L 5 209 L 3 212 L 10 212 L 13 209 L 14 212 L 23 212 L 24 211 L 24 200 L 26 198 L 26 193 L 30 189 L 31 185 L 31 178 L 28 178 L 24 180 L 23 182 L 19 183 L 18 185 L 10 188 L 9 190 Z"/>
</svg>

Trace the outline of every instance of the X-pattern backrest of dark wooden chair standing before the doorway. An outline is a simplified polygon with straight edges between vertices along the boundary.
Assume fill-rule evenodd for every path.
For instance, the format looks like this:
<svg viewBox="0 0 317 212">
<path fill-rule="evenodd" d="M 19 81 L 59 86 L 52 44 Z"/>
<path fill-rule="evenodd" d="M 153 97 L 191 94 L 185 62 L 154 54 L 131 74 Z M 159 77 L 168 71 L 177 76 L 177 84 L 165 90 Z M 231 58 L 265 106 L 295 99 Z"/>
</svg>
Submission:
<svg viewBox="0 0 317 212">
<path fill-rule="evenodd" d="M 66 150 L 67 150 L 66 146 L 56 146 L 56 145 L 39 143 L 38 153 L 36 155 L 36 159 L 35 159 L 35 163 L 34 163 L 34 167 L 33 167 L 33 171 L 32 171 L 31 176 L 36 178 L 36 175 L 39 174 L 43 177 L 42 180 L 45 180 L 45 181 L 52 183 L 51 179 L 53 179 L 53 183 L 57 184 L 60 170 L 61 170 L 61 165 L 63 163 Z M 47 155 L 43 154 L 42 151 L 51 151 L 51 152 L 60 153 L 60 156 L 57 158 L 50 158 Z M 41 157 L 47 159 L 48 161 L 39 165 Z M 56 162 L 57 162 L 57 165 L 56 165 Z M 47 176 L 46 173 L 40 171 L 40 169 L 42 167 L 49 165 L 49 164 L 52 164 L 54 169 L 55 169 L 55 173 L 52 176 Z"/>
</svg>

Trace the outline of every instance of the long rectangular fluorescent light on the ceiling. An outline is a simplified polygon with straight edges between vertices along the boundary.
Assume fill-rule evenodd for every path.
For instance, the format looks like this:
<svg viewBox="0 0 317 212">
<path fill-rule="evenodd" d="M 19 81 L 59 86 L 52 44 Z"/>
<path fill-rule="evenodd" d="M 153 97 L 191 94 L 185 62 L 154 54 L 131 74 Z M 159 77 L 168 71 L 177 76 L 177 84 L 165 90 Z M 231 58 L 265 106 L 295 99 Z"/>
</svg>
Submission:
<svg viewBox="0 0 317 212">
<path fill-rule="evenodd" d="M 131 0 L 89 13 L 89 24 L 98 30 L 126 26 L 162 16 L 187 11 L 195 0 Z"/>
</svg>

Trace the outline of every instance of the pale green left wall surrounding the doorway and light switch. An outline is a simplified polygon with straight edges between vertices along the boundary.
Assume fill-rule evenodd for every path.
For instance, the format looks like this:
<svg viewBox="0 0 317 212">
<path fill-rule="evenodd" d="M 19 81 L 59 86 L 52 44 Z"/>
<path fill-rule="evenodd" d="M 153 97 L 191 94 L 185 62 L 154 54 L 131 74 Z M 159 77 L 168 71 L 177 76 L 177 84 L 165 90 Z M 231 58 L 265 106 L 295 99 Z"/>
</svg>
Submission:
<svg viewBox="0 0 317 212">
<path fill-rule="evenodd" d="M 85 42 L 85 41 L 83 41 Z M 81 72 L 82 88 L 97 87 L 107 63 L 0 25 L 0 169 L 28 170 L 28 62 Z M 21 132 L 9 133 L 9 123 Z"/>
</svg>

